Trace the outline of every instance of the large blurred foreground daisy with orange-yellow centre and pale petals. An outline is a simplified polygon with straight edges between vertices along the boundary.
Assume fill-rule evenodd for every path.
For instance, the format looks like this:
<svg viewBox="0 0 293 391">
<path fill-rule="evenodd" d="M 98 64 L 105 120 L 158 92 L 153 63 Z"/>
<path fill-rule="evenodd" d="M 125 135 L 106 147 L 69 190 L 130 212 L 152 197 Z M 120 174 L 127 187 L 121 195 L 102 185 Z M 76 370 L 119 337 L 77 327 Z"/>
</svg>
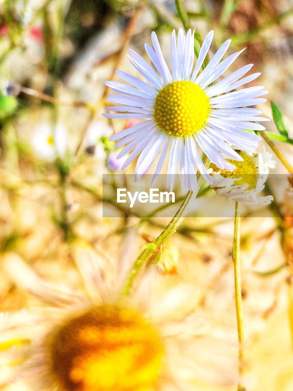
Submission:
<svg viewBox="0 0 293 391">
<path fill-rule="evenodd" d="M 74 248 L 87 293 L 45 282 L 18 255 L 5 256 L 11 280 L 43 301 L 2 316 L 6 384 L 26 379 L 32 391 L 185 391 L 198 389 L 203 377 L 235 384 L 235 344 L 219 338 L 219 329 L 207 335 L 200 314 L 184 314 L 191 287 L 180 284 L 158 298 L 158 274 L 145 274 L 122 300 L 117 292 L 131 265 L 120 262 L 113 278 L 111 260 L 105 267 L 89 246 Z"/>
</svg>

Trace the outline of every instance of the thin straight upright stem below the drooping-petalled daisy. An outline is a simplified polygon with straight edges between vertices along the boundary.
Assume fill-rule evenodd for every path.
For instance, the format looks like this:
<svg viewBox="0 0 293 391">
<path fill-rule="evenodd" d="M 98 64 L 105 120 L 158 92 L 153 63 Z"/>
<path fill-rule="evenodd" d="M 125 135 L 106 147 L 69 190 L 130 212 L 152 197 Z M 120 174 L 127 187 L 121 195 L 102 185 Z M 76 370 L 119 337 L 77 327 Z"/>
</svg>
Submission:
<svg viewBox="0 0 293 391">
<path fill-rule="evenodd" d="M 239 352 L 239 380 L 237 391 L 245 391 L 241 385 L 243 366 L 244 366 L 244 332 L 243 332 L 243 309 L 241 296 L 241 276 L 240 276 L 240 205 L 235 203 L 235 220 L 234 220 L 234 239 L 232 258 L 234 262 L 234 284 L 235 284 L 235 304 L 237 316 L 237 330 L 238 330 L 238 352 Z"/>
</svg>

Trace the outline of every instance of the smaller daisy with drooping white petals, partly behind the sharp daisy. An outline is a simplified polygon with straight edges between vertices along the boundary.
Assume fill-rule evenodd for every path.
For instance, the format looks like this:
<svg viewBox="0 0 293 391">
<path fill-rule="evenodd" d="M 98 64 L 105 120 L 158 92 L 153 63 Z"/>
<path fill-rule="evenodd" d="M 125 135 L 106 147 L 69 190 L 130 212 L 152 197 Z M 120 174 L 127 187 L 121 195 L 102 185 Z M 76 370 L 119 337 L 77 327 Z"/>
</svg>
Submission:
<svg viewBox="0 0 293 391">
<path fill-rule="evenodd" d="M 218 194 L 224 195 L 234 201 L 250 205 L 267 205 L 273 201 L 272 195 L 259 196 L 264 189 L 264 183 L 268 178 L 269 168 L 275 168 L 272 154 L 263 153 L 239 153 L 243 161 L 228 160 L 235 165 L 233 173 L 227 170 L 219 170 L 212 165 L 214 175 L 211 187 L 216 188 Z"/>
</svg>

